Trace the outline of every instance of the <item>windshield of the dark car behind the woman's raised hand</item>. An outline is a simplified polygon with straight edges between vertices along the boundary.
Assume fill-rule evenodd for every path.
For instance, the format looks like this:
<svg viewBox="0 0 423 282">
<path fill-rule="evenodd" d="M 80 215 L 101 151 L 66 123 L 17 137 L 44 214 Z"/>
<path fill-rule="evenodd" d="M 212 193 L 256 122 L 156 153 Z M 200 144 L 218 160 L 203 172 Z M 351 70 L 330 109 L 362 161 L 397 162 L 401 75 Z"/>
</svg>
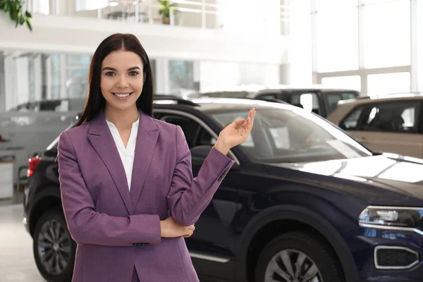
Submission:
<svg viewBox="0 0 423 282">
<path fill-rule="evenodd" d="M 240 145 L 252 159 L 262 162 L 305 162 L 371 156 L 372 152 L 323 118 L 283 104 L 256 107 L 254 127 Z M 245 118 L 248 109 L 214 111 L 224 127 Z"/>
</svg>

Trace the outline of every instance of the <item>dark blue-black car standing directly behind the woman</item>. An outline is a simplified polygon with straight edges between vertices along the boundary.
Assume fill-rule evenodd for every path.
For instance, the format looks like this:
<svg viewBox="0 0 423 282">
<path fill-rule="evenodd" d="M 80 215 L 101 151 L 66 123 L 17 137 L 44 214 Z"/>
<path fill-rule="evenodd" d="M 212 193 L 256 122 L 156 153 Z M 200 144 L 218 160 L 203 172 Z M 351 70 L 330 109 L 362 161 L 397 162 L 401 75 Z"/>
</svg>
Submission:
<svg viewBox="0 0 423 282">
<path fill-rule="evenodd" d="M 220 130 L 257 109 L 250 138 L 186 239 L 201 281 L 423 281 L 423 161 L 374 154 L 295 106 L 159 99 L 180 125 L 194 175 Z M 78 117 L 77 117 L 78 118 Z M 70 281 L 75 243 L 61 208 L 55 140 L 30 160 L 27 231 L 48 281 Z"/>
</svg>

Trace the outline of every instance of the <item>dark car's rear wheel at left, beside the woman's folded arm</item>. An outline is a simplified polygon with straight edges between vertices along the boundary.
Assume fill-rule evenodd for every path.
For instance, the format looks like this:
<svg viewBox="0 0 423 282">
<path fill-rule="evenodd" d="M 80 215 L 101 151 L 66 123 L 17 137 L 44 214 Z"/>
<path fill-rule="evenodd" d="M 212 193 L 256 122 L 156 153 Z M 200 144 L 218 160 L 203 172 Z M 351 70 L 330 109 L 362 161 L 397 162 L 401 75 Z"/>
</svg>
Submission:
<svg viewBox="0 0 423 282">
<path fill-rule="evenodd" d="M 40 274 L 47 281 L 72 281 L 76 243 L 66 226 L 63 212 L 51 209 L 36 223 L 33 252 Z"/>
</svg>

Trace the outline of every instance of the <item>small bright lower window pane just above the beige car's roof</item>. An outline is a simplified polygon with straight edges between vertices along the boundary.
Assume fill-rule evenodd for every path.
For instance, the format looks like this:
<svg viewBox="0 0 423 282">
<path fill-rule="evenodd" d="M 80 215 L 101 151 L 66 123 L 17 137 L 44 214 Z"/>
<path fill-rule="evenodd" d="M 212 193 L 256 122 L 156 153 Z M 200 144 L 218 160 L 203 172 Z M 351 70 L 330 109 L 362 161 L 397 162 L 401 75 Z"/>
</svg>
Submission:
<svg viewBox="0 0 423 282">
<path fill-rule="evenodd" d="M 384 73 L 369 75 L 367 78 L 369 96 L 405 92 L 410 92 L 410 73 Z"/>
</svg>

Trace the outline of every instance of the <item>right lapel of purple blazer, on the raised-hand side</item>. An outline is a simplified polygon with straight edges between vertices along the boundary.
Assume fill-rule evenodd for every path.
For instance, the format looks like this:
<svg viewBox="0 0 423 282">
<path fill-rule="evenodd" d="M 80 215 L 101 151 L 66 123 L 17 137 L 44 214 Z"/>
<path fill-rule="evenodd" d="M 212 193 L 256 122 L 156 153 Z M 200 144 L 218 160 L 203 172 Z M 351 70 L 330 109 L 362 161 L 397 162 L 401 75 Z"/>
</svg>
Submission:
<svg viewBox="0 0 423 282">
<path fill-rule="evenodd" d="M 138 199 L 140 198 L 158 137 L 159 128 L 157 128 L 156 123 L 154 123 L 154 119 L 140 111 L 140 124 L 138 126 L 133 174 L 130 185 L 130 198 L 132 200 L 133 209 L 135 209 Z"/>
</svg>

